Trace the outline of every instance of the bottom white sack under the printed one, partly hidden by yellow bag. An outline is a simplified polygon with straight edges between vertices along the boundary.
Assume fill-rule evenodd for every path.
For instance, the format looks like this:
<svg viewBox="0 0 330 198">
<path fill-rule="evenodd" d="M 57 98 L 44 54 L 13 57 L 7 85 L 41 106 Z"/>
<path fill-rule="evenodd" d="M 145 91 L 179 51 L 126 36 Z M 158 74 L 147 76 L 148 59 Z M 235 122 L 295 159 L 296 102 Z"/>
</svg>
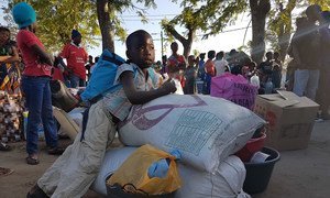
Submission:
<svg viewBox="0 0 330 198">
<path fill-rule="evenodd" d="M 136 147 L 128 146 L 109 150 L 90 189 L 107 196 L 106 180 L 135 150 Z M 182 163 L 178 163 L 178 167 L 183 186 L 175 194 L 177 198 L 250 198 L 242 189 L 245 179 L 244 164 L 237 156 L 227 157 L 215 174 L 200 172 Z"/>
</svg>

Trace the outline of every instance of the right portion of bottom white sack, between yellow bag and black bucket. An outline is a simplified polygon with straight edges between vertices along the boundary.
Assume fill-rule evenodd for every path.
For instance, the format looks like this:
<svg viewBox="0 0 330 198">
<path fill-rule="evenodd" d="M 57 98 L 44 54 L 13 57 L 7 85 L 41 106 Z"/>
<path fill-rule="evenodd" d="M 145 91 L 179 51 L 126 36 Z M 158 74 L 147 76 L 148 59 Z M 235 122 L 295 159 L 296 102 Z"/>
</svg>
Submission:
<svg viewBox="0 0 330 198">
<path fill-rule="evenodd" d="M 175 194 L 177 198 L 250 198 L 243 191 L 244 164 L 234 155 L 222 161 L 215 174 L 183 164 L 179 164 L 179 174 L 183 187 Z"/>
</svg>

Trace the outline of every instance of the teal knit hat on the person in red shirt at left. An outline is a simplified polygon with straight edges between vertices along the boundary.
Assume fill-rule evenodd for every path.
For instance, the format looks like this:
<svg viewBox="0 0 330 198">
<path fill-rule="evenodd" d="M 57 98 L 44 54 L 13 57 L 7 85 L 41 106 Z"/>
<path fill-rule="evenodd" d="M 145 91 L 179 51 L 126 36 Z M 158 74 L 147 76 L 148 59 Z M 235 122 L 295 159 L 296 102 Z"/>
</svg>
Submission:
<svg viewBox="0 0 330 198">
<path fill-rule="evenodd" d="M 34 9 L 25 2 L 15 4 L 12 9 L 12 15 L 19 29 L 29 26 L 36 21 Z"/>
</svg>

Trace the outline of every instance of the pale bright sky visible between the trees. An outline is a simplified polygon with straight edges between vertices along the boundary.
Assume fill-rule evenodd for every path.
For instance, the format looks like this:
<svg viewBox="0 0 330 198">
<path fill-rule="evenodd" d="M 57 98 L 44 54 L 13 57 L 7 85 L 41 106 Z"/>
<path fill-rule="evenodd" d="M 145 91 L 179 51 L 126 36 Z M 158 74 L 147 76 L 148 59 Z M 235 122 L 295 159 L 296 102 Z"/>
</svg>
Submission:
<svg viewBox="0 0 330 198">
<path fill-rule="evenodd" d="M 144 24 L 140 21 L 140 18 L 136 16 L 134 10 L 128 10 L 123 13 L 119 13 L 120 19 L 122 21 L 123 28 L 127 30 L 128 34 L 143 29 L 151 33 L 154 38 L 155 50 L 156 50 L 156 59 L 161 61 L 162 58 L 162 45 L 161 45 L 161 20 L 167 18 L 170 20 L 176 14 L 182 12 L 182 8 L 179 4 L 173 3 L 170 0 L 155 0 L 157 8 L 156 9 L 147 9 L 146 18 L 150 20 L 147 24 Z M 0 0 L 0 6 L 6 6 L 7 0 Z M 139 6 L 140 7 L 140 6 Z M 143 6 L 141 6 L 143 8 Z M 2 13 L 0 14 L 2 15 Z M 243 45 L 243 38 L 245 33 L 245 28 L 248 26 L 250 21 L 250 15 L 244 13 L 240 15 L 235 22 L 235 24 L 228 25 L 222 32 L 220 32 L 216 36 L 210 36 L 208 40 L 201 40 L 201 36 L 197 36 L 196 41 L 193 43 L 191 54 L 194 50 L 197 50 L 199 53 L 207 53 L 210 50 L 215 50 L 216 52 L 220 51 L 230 51 L 231 48 L 238 48 Z M 3 23 L 3 19 L 0 19 L 0 22 Z M 237 30 L 241 29 L 241 30 Z M 178 32 L 182 33 L 184 29 L 178 29 Z M 197 33 L 200 35 L 201 33 Z M 249 28 L 246 32 L 246 38 L 244 44 L 246 44 L 252 38 L 252 29 Z M 179 44 L 178 53 L 183 53 L 183 45 Z M 114 43 L 116 53 L 125 57 L 125 45 L 121 41 L 116 41 Z M 102 53 L 101 43 L 99 46 L 87 47 L 88 54 L 95 56 L 99 56 Z M 169 56 L 170 48 L 167 45 L 164 48 L 164 54 Z"/>
</svg>

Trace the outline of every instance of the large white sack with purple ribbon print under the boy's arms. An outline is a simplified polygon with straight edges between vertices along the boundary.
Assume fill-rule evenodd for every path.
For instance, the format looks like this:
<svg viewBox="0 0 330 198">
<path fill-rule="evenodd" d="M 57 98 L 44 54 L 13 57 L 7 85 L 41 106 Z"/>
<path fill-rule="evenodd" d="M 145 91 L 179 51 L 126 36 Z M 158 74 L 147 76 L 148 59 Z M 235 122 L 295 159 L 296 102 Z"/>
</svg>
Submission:
<svg viewBox="0 0 330 198">
<path fill-rule="evenodd" d="M 133 106 L 119 124 L 123 144 L 180 151 L 183 161 L 213 173 L 265 123 L 246 108 L 202 95 L 168 95 Z"/>
</svg>

